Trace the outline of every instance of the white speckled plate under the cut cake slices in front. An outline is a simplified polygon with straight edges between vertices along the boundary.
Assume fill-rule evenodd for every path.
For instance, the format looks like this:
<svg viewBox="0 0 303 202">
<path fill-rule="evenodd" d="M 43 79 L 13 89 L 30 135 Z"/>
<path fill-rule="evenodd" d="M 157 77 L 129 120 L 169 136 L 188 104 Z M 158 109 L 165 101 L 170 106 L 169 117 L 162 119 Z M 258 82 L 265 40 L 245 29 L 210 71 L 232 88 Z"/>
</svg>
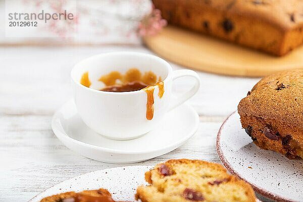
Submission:
<svg viewBox="0 0 303 202">
<path fill-rule="evenodd" d="M 106 188 L 115 200 L 136 201 L 139 185 L 147 185 L 144 173 L 153 166 L 126 166 L 93 171 L 56 184 L 36 195 L 28 202 L 39 202 L 42 198 L 67 191 L 82 191 Z M 261 202 L 257 200 L 256 202 Z"/>
</svg>

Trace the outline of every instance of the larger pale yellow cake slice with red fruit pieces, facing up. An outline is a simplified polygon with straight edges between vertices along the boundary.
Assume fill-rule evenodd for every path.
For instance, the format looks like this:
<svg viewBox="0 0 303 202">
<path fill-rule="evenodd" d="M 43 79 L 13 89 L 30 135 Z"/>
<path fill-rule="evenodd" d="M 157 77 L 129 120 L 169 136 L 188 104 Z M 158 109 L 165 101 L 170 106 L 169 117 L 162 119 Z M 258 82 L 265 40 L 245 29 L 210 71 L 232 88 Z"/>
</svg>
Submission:
<svg viewBox="0 0 303 202">
<path fill-rule="evenodd" d="M 145 173 L 148 186 L 137 188 L 142 202 L 254 201 L 255 193 L 219 164 L 198 160 L 169 160 Z"/>
</svg>

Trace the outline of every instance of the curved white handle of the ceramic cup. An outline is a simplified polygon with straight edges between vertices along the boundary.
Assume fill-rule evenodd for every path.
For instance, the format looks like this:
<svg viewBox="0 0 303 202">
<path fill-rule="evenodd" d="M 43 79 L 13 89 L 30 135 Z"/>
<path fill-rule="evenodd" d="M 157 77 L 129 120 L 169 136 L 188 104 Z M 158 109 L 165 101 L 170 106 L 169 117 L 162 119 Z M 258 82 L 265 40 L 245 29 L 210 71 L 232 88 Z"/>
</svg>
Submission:
<svg viewBox="0 0 303 202">
<path fill-rule="evenodd" d="M 184 76 L 190 76 L 195 79 L 194 86 L 187 92 L 185 92 L 183 95 L 179 97 L 172 98 L 172 101 L 170 103 L 169 111 L 175 109 L 179 105 L 183 104 L 187 99 L 192 97 L 199 89 L 200 87 L 200 78 L 198 74 L 195 71 L 192 70 L 176 70 L 173 72 L 173 81 L 177 78 L 184 77 Z"/>
</svg>

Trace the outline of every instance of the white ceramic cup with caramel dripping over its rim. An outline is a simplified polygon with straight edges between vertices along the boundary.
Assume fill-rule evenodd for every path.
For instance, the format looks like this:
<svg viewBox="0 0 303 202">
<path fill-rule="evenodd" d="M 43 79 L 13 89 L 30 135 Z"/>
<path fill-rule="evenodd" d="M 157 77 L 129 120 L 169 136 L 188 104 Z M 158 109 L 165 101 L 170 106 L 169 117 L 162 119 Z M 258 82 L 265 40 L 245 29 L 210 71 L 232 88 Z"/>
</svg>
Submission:
<svg viewBox="0 0 303 202">
<path fill-rule="evenodd" d="M 104 86 L 98 81 L 100 76 L 112 71 L 125 73 L 131 68 L 137 68 L 141 72 L 152 71 L 164 79 L 162 98 L 158 96 L 159 88 L 155 87 L 154 117 L 151 120 L 146 119 L 145 91 L 96 90 Z M 81 76 L 85 72 L 88 72 L 91 81 L 90 88 L 80 84 Z M 173 81 L 184 76 L 192 77 L 194 86 L 182 96 L 173 97 Z M 85 59 L 74 66 L 71 78 L 74 101 L 84 123 L 95 132 L 118 140 L 132 139 L 152 130 L 166 112 L 184 103 L 200 86 L 200 79 L 194 71 L 172 71 L 170 64 L 159 57 L 133 52 L 112 52 Z"/>
</svg>

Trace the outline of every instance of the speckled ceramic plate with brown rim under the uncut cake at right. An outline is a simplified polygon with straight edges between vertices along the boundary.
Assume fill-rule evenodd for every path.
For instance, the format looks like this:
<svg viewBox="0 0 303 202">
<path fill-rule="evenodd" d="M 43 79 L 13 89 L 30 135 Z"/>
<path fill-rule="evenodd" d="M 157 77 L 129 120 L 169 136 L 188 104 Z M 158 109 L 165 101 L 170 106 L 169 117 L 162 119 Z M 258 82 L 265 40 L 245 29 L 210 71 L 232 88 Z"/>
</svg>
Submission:
<svg viewBox="0 0 303 202">
<path fill-rule="evenodd" d="M 217 136 L 223 165 L 255 191 L 277 201 L 303 201 L 303 160 L 260 149 L 241 127 L 238 113 L 230 115 Z"/>
</svg>

